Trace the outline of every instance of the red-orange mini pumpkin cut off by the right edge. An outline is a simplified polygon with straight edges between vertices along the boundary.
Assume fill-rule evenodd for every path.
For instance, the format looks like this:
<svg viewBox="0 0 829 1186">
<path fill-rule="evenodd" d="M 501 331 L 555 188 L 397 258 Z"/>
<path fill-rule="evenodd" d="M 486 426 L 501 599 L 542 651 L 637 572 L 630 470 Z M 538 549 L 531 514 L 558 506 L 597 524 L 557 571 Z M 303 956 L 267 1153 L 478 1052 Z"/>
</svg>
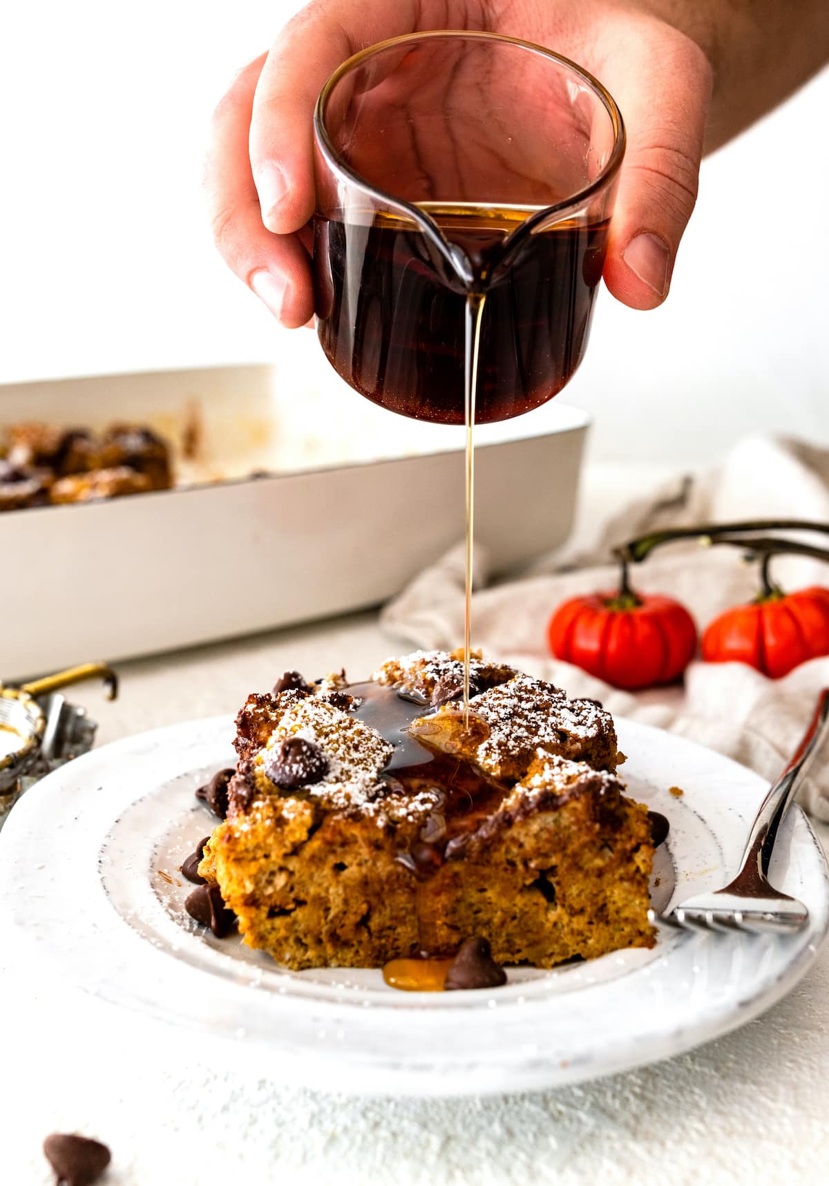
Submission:
<svg viewBox="0 0 829 1186">
<path fill-rule="evenodd" d="M 808 659 L 829 655 L 829 589 L 764 592 L 726 610 L 702 636 L 707 663 L 747 663 L 779 680 Z"/>
</svg>

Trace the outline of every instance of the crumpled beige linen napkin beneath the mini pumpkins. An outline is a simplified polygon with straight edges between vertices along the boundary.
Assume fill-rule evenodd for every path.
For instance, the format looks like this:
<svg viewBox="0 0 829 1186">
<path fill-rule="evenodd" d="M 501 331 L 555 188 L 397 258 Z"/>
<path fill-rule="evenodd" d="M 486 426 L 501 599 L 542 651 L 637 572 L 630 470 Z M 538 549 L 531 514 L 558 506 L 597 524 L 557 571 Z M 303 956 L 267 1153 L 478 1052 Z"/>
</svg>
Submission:
<svg viewBox="0 0 829 1186">
<path fill-rule="evenodd" d="M 613 544 L 658 528 L 770 517 L 829 523 L 829 451 L 802 441 L 748 438 L 712 470 L 678 477 L 614 515 L 589 551 L 560 551 L 522 579 L 486 587 L 486 557 L 477 549 L 473 645 L 570 695 L 597 697 L 611 713 L 719 750 L 771 780 L 797 746 L 818 691 L 829 687 L 829 657 L 812 659 L 783 680 L 767 680 L 738 663 L 694 662 L 682 687 L 633 694 L 551 658 L 546 642 L 547 621 L 562 601 L 617 586 L 618 568 L 607 562 Z M 668 544 L 634 566 L 631 575 L 633 587 L 644 593 L 676 597 L 700 630 L 728 606 L 751 600 L 759 579 L 757 566 L 745 565 L 732 548 L 684 542 Z M 829 566 L 804 557 L 777 559 L 773 575 L 791 591 L 829 585 Z M 384 608 L 382 623 L 409 645 L 457 646 L 464 636 L 463 547 L 420 574 Z M 829 754 L 815 760 L 799 802 L 829 820 Z"/>
</svg>

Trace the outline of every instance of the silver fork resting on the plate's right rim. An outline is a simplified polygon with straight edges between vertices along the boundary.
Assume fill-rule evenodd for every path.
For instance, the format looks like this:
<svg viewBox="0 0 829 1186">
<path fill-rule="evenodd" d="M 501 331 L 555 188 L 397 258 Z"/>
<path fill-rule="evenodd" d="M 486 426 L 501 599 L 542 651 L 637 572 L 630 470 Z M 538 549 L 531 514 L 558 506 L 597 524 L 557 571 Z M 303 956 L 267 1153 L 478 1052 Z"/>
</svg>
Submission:
<svg viewBox="0 0 829 1186">
<path fill-rule="evenodd" d="M 791 805 L 809 763 L 829 734 L 829 688 L 817 700 L 815 714 L 797 752 L 760 805 L 733 881 L 713 893 L 696 894 L 669 914 L 650 912 L 652 923 L 709 931 L 797 931 L 809 911 L 796 898 L 769 884 L 769 861 L 780 822 Z"/>
</svg>

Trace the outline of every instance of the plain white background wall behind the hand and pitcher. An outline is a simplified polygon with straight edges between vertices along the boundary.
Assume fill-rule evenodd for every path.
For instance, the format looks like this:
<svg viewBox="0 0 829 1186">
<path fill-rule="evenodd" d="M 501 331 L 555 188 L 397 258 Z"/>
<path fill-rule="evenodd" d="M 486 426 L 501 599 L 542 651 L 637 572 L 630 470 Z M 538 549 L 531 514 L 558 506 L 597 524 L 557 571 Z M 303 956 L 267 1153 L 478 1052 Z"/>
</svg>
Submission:
<svg viewBox="0 0 829 1186">
<path fill-rule="evenodd" d="M 0 382 L 278 355 L 299 382 L 314 337 L 225 270 L 200 196 L 216 100 L 298 7 L 7 9 Z M 704 460 L 752 429 L 829 444 L 828 110 L 824 72 L 706 162 L 664 308 L 602 294 L 566 396 L 597 417 L 594 459 Z"/>
</svg>

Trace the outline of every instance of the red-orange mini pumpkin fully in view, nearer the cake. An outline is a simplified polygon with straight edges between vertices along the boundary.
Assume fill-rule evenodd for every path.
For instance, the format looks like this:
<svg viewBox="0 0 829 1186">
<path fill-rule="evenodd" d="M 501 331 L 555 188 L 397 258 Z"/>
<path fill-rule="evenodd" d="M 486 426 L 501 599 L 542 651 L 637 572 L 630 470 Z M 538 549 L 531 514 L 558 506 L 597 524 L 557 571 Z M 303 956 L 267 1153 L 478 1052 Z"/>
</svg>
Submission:
<svg viewBox="0 0 829 1186">
<path fill-rule="evenodd" d="M 547 638 L 556 658 L 629 689 L 672 683 L 696 651 L 696 626 L 683 605 L 630 588 L 565 601 Z"/>
</svg>

